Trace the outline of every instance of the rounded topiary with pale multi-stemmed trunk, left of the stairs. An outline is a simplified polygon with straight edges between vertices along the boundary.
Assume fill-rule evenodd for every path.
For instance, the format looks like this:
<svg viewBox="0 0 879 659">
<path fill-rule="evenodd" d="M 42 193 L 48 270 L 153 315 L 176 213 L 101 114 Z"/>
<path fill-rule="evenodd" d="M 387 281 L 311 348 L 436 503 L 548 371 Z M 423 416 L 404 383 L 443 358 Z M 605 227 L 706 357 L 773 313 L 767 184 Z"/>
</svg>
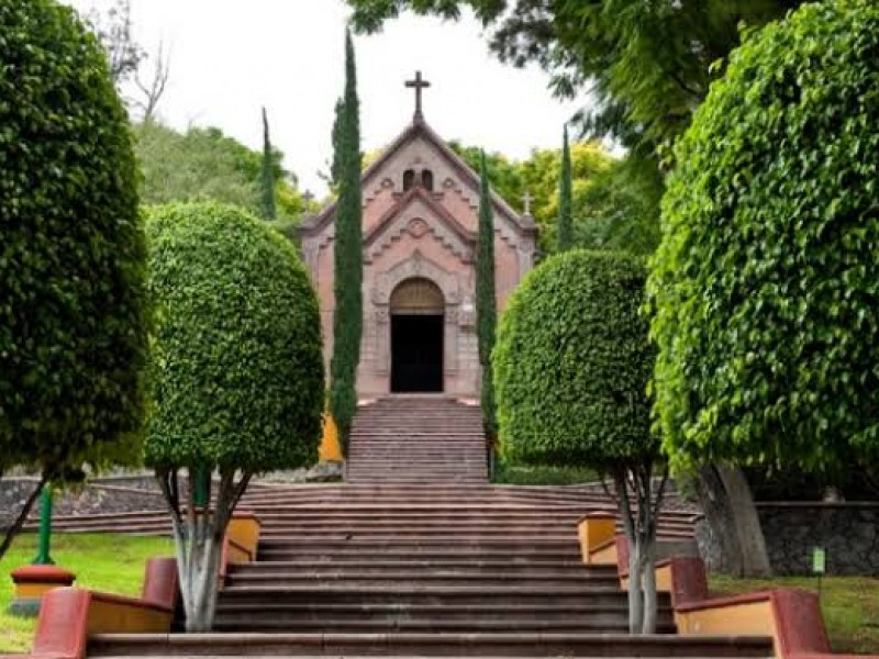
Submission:
<svg viewBox="0 0 879 659">
<path fill-rule="evenodd" d="M 187 629 L 203 632 L 251 477 L 318 458 L 318 301 L 289 241 L 235 206 L 162 206 L 147 233 L 159 320 L 145 457 L 171 513 Z"/>
</svg>

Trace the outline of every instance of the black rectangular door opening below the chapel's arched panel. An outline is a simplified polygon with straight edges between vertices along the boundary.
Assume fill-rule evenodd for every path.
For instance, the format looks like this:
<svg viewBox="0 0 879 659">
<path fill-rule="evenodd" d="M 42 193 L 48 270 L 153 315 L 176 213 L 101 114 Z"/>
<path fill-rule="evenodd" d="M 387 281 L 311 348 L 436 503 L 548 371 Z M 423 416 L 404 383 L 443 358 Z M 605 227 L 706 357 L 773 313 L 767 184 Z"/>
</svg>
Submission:
<svg viewBox="0 0 879 659">
<path fill-rule="evenodd" d="M 443 391 L 443 316 L 391 316 L 391 391 Z"/>
</svg>

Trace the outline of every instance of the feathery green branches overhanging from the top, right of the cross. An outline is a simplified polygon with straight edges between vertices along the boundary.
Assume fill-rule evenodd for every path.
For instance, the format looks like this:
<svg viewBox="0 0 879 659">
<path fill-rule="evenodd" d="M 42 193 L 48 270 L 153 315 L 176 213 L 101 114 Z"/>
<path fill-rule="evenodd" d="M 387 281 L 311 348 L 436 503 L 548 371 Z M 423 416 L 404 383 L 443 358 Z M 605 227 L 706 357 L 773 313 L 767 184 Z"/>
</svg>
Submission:
<svg viewBox="0 0 879 659">
<path fill-rule="evenodd" d="M 411 10 L 445 19 L 469 8 L 492 26 L 491 48 L 514 66 L 536 63 L 561 96 L 589 89 L 594 135 L 612 134 L 639 154 L 689 124 L 714 66 L 739 44 L 739 27 L 783 16 L 803 0 L 347 0 L 358 30 L 376 32 Z"/>
</svg>

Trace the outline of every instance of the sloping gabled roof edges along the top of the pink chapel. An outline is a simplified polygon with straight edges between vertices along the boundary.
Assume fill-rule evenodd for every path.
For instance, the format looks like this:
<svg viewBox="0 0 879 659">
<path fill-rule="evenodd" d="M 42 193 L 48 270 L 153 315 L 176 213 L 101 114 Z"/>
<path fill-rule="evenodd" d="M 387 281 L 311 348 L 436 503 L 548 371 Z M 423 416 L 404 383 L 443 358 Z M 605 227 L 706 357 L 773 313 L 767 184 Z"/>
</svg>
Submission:
<svg viewBox="0 0 879 659">
<path fill-rule="evenodd" d="M 416 138 L 423 137 L 429 144 L 433 145 L 442 155 L 446 158 L 446 160 L 452 165 L 452 167 L 458 172 L 463 181 L 470 183 L 470 186 L 475 190 L 479 190 L 479 175 L 474 171 L 467 163 L 465 163 L 449 146 L 443 142 L 443 138 L 436 134 L 436 132 L 427 125 L 427 123 L 421 119 L 415 118 L 412 123 L 403 131 L 397 139 L 394 139 L 391 145 L 385 149 L 385 152 L 376 159 L 367 169 L 364 171 L 363 176 L 360 177 L 360 187 L 367 188 L 370 180 L 385 167 L 385 165 L 410 142 L 414 142 Z M 510 220 L 520 232 L 522 233 L 536 233 L 537 228 L 534 224 L 534 220 L 530 215 L 519 215 L 509 203 L 507 203 L 497 192 L 493 190 L 491 191 L 491 200 L 496 206 L 498 206 L 508 220 Z M 439 205 L 439 204 L 435 204 Z M 394 204 L 394 209 L 399 208 L 398 204 Z M 300 231 L 304 235 L 313 235 L 314 233 L 322 230 L 326 224 L 331 222 L 333 216 L 335 215 L 336 204 L 335 202 L 327 205 L 323 209 L 320 213 L 305 220 L 302 224 Z M 445 209 L 443 209 L 445 212 Z M 446 212 L 446 214 L 448 214 Z M 457 222 L 456 222 L 457 223 Z"/>
</svg>

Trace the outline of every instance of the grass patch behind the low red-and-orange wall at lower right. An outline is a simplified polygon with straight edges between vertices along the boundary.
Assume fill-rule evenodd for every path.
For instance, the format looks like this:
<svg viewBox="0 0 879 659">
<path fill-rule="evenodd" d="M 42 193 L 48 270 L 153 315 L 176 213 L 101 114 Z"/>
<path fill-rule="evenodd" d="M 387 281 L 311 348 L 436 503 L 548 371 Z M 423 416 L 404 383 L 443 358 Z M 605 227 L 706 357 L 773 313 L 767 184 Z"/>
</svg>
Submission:
<svg viewBox="0 0 879 659">
<path fill-rule="evenodd" d="M 712 594 L 739 594 L 776 587 L 817 591 L 813 577 L 733 579 L 712 574 Z M 879 579 L 828 577 L 822 580 L 821 610 L 834 652 L 879 654 Z"/>
</svg>

